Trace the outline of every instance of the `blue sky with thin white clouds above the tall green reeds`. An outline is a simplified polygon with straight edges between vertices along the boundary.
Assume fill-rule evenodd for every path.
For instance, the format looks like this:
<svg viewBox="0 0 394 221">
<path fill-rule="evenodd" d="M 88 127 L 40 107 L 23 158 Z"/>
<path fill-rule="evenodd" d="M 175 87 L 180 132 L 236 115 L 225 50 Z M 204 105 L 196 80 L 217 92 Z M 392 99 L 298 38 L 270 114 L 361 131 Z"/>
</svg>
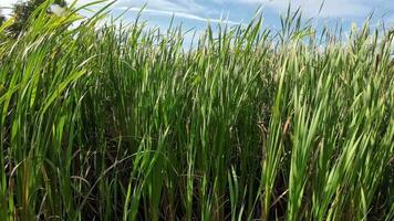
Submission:
<svg viewBox="0 0 394 221">
<path fill-rule="evenodd" d="M 15 1 L 0 0 L 0 6 L 9 7 Z M 90 1 L 92 0 L 79 2 Z M 319 13 L 322 1 L 291 0 L 291 4 L 294 9 L 300 6 L 305 19 L 315 18 L 320 24 L 340 22 L 346 29 L 352 22 L 361 24 L 372 11 L 375 14 L 374 23 L 394 23 L 394 0 L 325 0 Z M 259 7 L 262 8 L 265 24 L 279 29 L 279 15 L 286 12 L 289 0 L 117 0 L 112 7 L 112 13 L 116 15 L 128 10 L 124 18 L 126 21 L 133 21 L 145 3 L 147 7 L 143 18 L 149 25 L 163 29 L 168 27 L 173 14 L 175 22 L 182 22 L 185 29 L 204 29 L 208 20 L 211 23 L 220 20 L 230 24 L 247 23 Z"/>
</svg>

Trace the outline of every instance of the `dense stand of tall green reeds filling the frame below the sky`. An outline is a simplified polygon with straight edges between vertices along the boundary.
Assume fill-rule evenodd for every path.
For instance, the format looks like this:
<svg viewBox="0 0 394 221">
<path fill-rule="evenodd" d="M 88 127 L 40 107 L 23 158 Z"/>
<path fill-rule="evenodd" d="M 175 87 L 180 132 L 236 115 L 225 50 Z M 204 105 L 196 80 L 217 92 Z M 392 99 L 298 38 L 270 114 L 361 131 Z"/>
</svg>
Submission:
<svg viewBox="0 0 394 221">
<path fill-rule="evenodd" d="M 393 220 L 394 34 L 0 28 L 2 220 Z M 116 23 L 116 24 L 115 24 Z"/>
</svg>

